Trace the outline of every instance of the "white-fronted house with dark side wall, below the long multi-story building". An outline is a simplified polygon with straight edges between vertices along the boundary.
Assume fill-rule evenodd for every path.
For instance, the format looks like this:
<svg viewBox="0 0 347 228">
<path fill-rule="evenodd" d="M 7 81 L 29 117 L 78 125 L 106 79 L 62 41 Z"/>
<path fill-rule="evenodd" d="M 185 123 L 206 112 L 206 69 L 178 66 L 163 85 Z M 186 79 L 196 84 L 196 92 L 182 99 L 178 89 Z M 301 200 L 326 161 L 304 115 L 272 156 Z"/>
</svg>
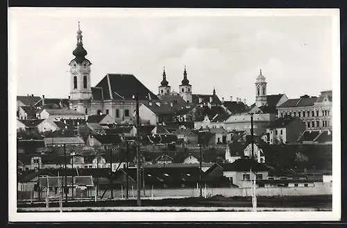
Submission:
<svg viewBox="0 0 347 228">
<path fill-rule="evenodd" d="M 306 130 L 306 124 L 298 117 L 285 116 L 272 122 L 266 129 L 267 142 L 295 143 Z"/>
</svg>

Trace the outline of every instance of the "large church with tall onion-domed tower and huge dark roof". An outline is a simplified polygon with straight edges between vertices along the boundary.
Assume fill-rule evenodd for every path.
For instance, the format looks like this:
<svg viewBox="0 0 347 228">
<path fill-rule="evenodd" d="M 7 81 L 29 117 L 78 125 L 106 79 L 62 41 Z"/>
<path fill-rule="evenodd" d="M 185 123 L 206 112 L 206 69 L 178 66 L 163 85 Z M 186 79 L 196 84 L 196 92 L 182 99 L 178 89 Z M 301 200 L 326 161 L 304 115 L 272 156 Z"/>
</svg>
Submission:
<svg viewBox="0 0 347 228">
<path fill-rule="evenodd" d="M 116 122 L 123 122 L 135 119 L 134 95 L 138 94 L 139 102 L 158 100 L 158 97 L 133 74 L 107 74 L 95 87 L 92 87 L 92 63 L 85 58 L 87 51 L 83 47 L 79 22 L 77 45 L 72 54 L 75 58 L 69 63 L 71 75 L 69 108 L 86 116 L 110 114 Z"/>
</svg>

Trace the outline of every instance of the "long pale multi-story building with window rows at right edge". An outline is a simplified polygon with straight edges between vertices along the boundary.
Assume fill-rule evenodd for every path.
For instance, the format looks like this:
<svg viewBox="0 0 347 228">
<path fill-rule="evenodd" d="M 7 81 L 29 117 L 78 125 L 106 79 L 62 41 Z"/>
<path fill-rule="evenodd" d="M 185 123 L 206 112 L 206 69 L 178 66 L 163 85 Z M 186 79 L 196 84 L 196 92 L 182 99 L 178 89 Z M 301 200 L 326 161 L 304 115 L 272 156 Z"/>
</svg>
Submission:
<svg viewBox="0 0 347 228">
<path fill-rule="evenodd" d="M 289 99 L 277 107 L 278 116 L 299 117 L 308 130 L 331 129 L 332 90 L 322 91 L 319 97 L 301 96 Z"/>
</svg>

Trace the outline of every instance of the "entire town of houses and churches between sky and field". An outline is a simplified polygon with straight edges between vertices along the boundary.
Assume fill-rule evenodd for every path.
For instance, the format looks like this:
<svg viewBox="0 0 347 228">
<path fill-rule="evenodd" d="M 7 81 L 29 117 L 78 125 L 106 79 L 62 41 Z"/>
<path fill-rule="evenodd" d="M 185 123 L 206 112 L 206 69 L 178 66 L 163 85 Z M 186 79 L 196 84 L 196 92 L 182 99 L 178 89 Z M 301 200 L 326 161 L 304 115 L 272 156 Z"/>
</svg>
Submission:
<svg viewBox="0 0 347 228">
<path fill-rule="evenodd" d="M 189 66 L 178 88 L 163 67 L 155 93 L 133 74 L 94 86 L 79 24 L 72 54 L 69 95 L 17 96 L 18 200 L 135 197 L 137 163 L 144 196 L 247 195 L 253 179 L 259 195 L 331 193 L 332 90 L 269 95 L 263 69 L 253 101 L 201 94 Z"/>
</svg>

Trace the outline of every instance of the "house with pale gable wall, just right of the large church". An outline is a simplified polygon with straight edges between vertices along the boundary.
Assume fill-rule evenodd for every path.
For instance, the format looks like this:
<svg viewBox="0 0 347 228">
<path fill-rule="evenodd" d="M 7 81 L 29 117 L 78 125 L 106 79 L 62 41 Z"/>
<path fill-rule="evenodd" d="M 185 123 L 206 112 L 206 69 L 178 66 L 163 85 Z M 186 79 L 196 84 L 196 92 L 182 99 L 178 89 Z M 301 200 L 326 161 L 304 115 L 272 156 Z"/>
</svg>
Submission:
<svg viewBox="0 0 347 228">
<path fill-rule="evenodd" d="M 151 125 L 162 122 L 173 122 L 175 115 L 174 104 L 163 101 L 145 102 L 139 106 L 139 117 Z"/>
</svg>

